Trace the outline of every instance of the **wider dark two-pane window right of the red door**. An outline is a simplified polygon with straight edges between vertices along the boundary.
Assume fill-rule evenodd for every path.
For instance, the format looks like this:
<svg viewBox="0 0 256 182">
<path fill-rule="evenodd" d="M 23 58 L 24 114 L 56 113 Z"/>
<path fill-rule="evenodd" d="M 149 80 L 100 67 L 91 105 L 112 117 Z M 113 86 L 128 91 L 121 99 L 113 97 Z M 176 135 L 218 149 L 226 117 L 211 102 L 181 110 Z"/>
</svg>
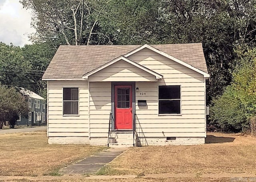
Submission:
<svg viewBox="0 0 256 182">
<path fill-rule="evenodd" d="M 159 86 L 159 114 L 180 114 L 180 85 Z"/>
</svg>

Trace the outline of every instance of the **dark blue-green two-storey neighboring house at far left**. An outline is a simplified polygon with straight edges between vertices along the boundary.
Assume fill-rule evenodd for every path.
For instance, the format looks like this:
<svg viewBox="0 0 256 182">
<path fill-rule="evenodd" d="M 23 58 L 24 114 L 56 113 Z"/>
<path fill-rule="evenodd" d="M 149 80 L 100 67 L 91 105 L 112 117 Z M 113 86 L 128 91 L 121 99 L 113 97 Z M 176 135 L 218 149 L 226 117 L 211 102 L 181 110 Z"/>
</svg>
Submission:
<svg viewBox="0 0 256 182">
<path fill-rule="evenodd" d="M 20 93 L 26 97 L 29 112 L 28 118 L 20 115 L 16 125 L 40 125 L 46 123 L 46 99 L 24 88 L 21 88 Z"/>
</svg>

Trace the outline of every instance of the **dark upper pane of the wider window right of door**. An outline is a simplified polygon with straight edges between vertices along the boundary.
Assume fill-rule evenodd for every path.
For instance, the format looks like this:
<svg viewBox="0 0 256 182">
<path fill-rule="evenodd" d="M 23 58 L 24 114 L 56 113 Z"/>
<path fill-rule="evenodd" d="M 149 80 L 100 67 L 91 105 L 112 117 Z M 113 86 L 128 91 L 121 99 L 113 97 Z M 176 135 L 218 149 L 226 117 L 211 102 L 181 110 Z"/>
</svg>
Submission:
<svg viewBox="0 0 256 182">
<path fill-rule="evenodd" d="M 180 85 L 159 86 L 159 99 L 180 99 Z"/>
</svg>

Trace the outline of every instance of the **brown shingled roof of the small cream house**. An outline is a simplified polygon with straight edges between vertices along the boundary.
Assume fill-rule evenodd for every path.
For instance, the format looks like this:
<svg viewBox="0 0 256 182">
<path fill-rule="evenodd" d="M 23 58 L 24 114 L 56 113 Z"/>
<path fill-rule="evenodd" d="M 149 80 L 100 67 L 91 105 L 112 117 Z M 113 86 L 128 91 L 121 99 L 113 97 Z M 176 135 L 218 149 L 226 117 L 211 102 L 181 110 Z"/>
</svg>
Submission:
<svg viewBox="0 0 256 182">
<path fill-rule="evenodd" d="M 60 45 L 42 79 L 81 79 L 82 75 L 141 45 Z M 201 43 L 151 45 L 208 73 Z"/>
</svg>

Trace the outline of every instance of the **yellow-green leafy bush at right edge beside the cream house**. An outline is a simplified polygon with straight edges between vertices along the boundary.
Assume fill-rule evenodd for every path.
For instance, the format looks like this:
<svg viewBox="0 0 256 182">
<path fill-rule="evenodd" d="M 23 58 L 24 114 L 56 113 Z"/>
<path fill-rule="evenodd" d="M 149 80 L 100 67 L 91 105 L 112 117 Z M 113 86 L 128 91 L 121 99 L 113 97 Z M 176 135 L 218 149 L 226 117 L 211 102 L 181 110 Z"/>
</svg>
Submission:
<svg viewBox="0 0 256 182">
<path fill-rule="evenodd" d="M 256 116 L 256 48 L 238 47 L 236 53 L 238 69 L 223 95 L 213 99 L 210 121 L 242 129 Z"/>
</svg>

